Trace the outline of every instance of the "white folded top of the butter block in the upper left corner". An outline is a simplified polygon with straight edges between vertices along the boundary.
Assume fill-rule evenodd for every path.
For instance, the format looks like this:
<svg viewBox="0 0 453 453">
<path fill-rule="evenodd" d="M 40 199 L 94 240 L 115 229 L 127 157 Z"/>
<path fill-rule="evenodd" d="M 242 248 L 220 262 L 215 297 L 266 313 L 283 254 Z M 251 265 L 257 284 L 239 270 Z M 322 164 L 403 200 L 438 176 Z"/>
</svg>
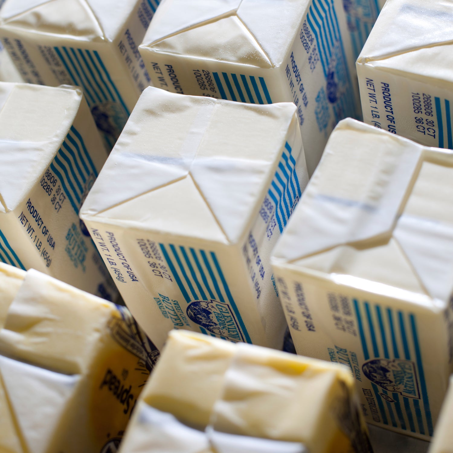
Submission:
<svg viewBox="0 0 453 453">
<path fill-rule="evenodd" d="M 0 22 L 79 41 L 113 41 L 137 0 L 6 0 Z"/>
</svg>

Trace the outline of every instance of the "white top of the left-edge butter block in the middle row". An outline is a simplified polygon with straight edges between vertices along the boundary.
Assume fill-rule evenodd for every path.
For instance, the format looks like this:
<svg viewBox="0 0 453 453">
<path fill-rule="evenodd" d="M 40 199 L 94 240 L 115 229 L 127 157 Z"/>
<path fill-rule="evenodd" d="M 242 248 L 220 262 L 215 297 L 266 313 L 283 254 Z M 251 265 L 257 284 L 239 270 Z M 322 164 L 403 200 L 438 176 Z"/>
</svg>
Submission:
<svg viewBox="0 0 453 453">
<path fill-rule="evenodd" d="M 38 183 L 81 101 L 73 87 L 0 82 L 0 212 L 14 210 Z"/>
</svg>

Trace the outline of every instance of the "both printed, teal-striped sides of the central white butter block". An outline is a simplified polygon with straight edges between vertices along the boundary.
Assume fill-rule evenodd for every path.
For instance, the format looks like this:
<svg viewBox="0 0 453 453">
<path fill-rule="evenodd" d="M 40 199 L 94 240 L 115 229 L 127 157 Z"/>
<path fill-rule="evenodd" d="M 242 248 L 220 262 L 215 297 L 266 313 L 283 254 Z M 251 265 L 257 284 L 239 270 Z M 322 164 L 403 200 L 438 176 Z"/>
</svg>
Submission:
<svg viewBox="0 0 453 453">
<path fill-rule="evenodd" d="M 86 220 L 126 304 L 158 348 L 172 328 L 186 328 L 281 349 L 286 326 L 270 252 L 308 181 L 297 127 L 294 119 L 258 216 L 236 245 L 106 226 L 96 217 Z M 169 185 L 168 193 L 159 189 L 128 203 L 136 202 L 130 206 L 140 210 L 148 197 L 159 197 L 166 206 L 165 200 L 172 199 L 171 209 L 191 216 L 193 200 L 183 198 L 191 181 L 183 179 Z M 120 210 L 112 208 L 109 216 L 124 216 Z"/>
</svg>

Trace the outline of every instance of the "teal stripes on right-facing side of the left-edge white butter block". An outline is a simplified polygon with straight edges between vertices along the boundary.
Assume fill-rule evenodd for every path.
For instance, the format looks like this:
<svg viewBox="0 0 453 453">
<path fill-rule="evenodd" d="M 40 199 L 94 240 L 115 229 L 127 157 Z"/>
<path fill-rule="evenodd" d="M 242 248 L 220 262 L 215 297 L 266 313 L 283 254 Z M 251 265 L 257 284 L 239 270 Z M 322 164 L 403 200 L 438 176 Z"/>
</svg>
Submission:
<svg viewBox="0 0 453 453">
<path fill-rule="evenodd" d="M 87 179 L 97 170 L 87 151 L 82 135 L 71 126 L 66 138 L 50 164 L 51 171 L 58 178 L 72 208 L 79 214 L 83 196 L 86 191 Z"/>
</svg>

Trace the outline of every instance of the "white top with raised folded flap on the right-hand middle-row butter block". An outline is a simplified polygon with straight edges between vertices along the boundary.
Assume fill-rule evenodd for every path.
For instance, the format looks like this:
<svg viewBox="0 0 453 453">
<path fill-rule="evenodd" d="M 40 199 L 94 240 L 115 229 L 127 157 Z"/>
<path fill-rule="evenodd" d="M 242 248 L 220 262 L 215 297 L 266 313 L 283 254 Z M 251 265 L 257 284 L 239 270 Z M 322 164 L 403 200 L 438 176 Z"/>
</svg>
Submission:
<svg viewBox="0 0 453 453">
<path fill-rule="evenodd" d="M 453 290 L 453 153 L 339 123 L 274 264 L 444 307 Z"/>
</svg>

